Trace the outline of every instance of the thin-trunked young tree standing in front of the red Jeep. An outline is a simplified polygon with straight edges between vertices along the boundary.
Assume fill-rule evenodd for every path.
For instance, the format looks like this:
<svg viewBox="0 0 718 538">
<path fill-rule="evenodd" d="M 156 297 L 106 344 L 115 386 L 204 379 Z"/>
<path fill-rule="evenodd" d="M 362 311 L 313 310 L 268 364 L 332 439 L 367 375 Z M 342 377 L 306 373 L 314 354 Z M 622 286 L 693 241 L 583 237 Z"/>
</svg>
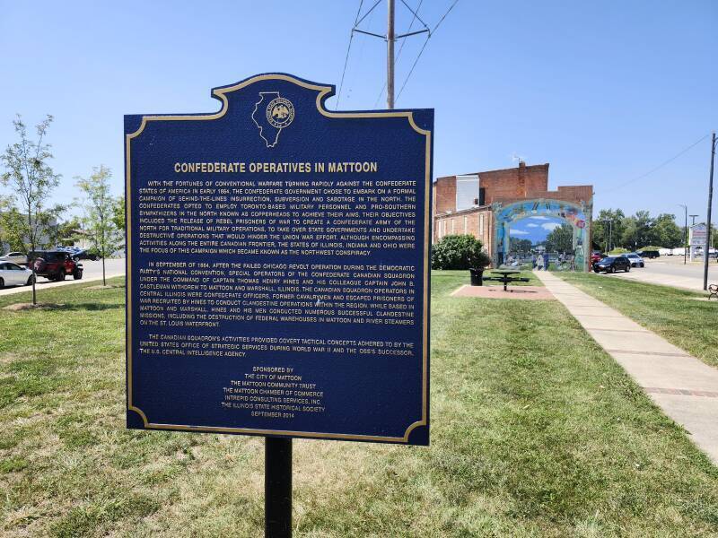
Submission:
<svg viewBox="0 0 718 538">
<path fill-rule="evenodd" d="M 37 140 L 28 137 L 27 127 L 18 115 L 13 120 L 15 134 L 19 140 L 7 146 L 0 155 L 5 173 L 0 180 L 5 187 L 13 192 L 13 201 L 19 205 L 22 219 L 20 226 L 20 239 L 26 252 L 34 251 L 44 236 L 48 236 L 51 221 L 63 209 L 60 205 L 48 207 L 52 192 L 60 183 L 60 176 L 56 174 L 49 161 L 52 159 L 50 145 L 45 143 L 45 136 L 52 123 L 52 116 L 47 116 L 36 127 Z M 35 291 L 35 268 L 32 269 L 32 304 L 37 304 Z"/>
</svg>

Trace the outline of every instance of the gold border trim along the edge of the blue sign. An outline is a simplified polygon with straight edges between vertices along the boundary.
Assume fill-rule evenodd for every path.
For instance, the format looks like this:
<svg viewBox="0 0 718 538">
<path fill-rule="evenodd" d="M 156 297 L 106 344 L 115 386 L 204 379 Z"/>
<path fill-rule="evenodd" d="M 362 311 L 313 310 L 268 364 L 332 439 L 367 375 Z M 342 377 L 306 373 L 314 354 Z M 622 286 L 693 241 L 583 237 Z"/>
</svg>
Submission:
<svg viewBox="0 0 718 538">
<path fill-rule="evenodd" d="M 423 134 L 426 137 L 425 144 L 425 223 L 424 223 L 424 325 L 422 327 L 422 343 L 424 356 L 422 358 L 422 418 L 420 421 L 415 421 L 407 427 L 404 431 L 404 437 L 382 437 L 382 436 L 370 436 L 370 435 L 351 435 L 342 433 L 320 433 L 320 432 L 307 432 L 307 431 L 291 431 L 291 430 L 256 430 L 251 428 L 227 428 L 227 427 L 215 427 L 215 426 L 182 426 L 176 424 L 154 424 L 147 419 L 144 412 L 132 404 L 132 203 L 127 205 L 127 267 L 130 269 L 127 271 L 127 410 L 134 411 L 142 417 L 145 428 L 154 430 L 190 430 L 190 431 L 206 431 L 215 433 L 245 433 L 245 434 L 256 434 L 256 435 L 285 435 L 292 437 L 306 437 L 306 438 L 334 438 L 334 439 L 347 439 L 347 440 L 363 440 L 363 441 L 385 441 L 392 443 L 407 443 L 409 434 L 418 428 L 419 426 L 425 426 L 427 423 L 427 411 L 428 411 L 428 343 L 429 343 L 429 233 L 431 232 L 431 212 L 429 207 L 429 199 L 431 196 L 432 178 L 431 178 L 431 148 L 432 132 L 427 129 L 422 129 L 417 126 L 414 121 L 414 115 L 411 111 L 396 111 L 396 112 L 331 112 L 322 106 L 322 99 L 325 95 L 331 92 L 331 86 L 322 86 L 319 84 L 312 84 L 310 82 L 304 82 L 300 79 L 294 78 L 288 74 L 259 74 L 253 76 L 246 81 L 239 82 L 232 86 L 225 88 L 218 88 L 212 91 L 219 100 L 222 101 L 222 108 L 215 114 L 200 114 L 200 115 L 173 115 L 173 116 L 143 116 L 142 122 L 139 128 L 132 134 L 125 135 L 126 151 L 125 151 L 125 169 L 126 169 L 126 191 L 127 194 L 132 192 L 132 178 L 131 178 L 131 142 L 133 138 L 136 138 L 144 131 L 144 127 L 147 126 L 148 122 L 151 121 L 208 121 L 223 117 L 229 108 L 229 101 L 227 100 L 226 94 L 232 91 L 241 90 L 254 82 L 266 81 L 266 80 L 280 80 L 285 82 L 293 82 L 294 84 L 307 88 L 309 90 L 319 91 L 317 94 L 316 105 L 322 116 L 326 117 L 337 117 L 337 118 L 364 118 L 364 117 L 406 117 L 412 129 L 418 134 Z"/>
</svg>

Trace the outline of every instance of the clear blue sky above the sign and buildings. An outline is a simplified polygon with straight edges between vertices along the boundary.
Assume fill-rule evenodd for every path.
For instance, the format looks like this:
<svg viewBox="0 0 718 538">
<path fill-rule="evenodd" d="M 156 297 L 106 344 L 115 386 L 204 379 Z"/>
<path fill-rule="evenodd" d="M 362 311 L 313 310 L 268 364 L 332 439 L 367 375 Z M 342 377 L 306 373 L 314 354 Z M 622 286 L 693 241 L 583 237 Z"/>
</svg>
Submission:
<svg viewBox="0 0 718 538">
<path fill-rule="evenodd" d="M 425 0 L 419 16 L 433 28 L 452 2 Z M 374 1 L 363 4 L 365 13 Z M 212 87 L 265 72 L 338 89 L 358 5 L 0 0 L 0 146 L 14 140 L 15 113 L 30 124 L 53 114 L 57 200 L 72 200 L 74 176 L 100 164 L 120 193 L 124 114 L 215 110 Z M 397 0 L 398 32 L 411 18 Z M 385 24 L 382 1 L 361 27 Z M 717 30 L 714 0 L 460 0 L 397 107 L 435 108 L 435 177 L 509 168 L 521 156 L 550 162 L 551 187 L 594 185 L 596 213 L 688 204 L 705 218 L 707 138 L 622 186 L 718 128 Z M 424 42 L 407 39 L 397 89 Z M 339 108 L 376 108 L 384 77 L 384 42 L 355 36 Z"/>
</svg>

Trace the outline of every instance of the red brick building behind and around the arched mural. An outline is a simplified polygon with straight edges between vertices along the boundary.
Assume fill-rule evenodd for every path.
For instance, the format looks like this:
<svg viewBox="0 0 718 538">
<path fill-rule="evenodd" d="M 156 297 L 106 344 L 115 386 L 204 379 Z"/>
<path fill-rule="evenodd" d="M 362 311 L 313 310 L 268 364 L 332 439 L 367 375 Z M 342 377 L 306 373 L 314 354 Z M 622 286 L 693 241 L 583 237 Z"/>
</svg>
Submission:
<svg viewBox="0 0 718 538">
<path fill-rule="evenodd" d="M 457 203 L 460 191 L 464 207 Z M 497 222 L 497 209 L 531 200 L 579 206 L 588 215 L 585 225 L 590 225 L 591 185 L 557 187 L 550 191 L 548 163 L 527 166 L 521 161 L 516 168 L 437 178 L 433 183 L 433 242 L 450 234 L 471 234 L 484 243 L 487 252 L 495 254 L 495 227 L 501 224 Z"/>
</svg>

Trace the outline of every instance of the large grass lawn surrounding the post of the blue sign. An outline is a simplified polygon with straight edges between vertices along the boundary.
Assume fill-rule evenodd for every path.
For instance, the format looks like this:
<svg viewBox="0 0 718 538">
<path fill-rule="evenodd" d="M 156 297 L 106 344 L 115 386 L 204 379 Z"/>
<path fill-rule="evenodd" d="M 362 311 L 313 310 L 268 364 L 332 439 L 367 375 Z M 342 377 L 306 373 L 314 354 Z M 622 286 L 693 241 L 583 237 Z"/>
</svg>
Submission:
<svg viewBox="0 0 718 538">
<path fill-rule="evenodd" d="M 467 280 L 433 273 L 432 447 L 295 440 L 295 534 L 718 534 L 718 468 L 574 318 Z M 125 430 L 125 290 L 87 288 L 0 309 L 0 535 L 261 535 L 262 439 Z"/>
</svg>

